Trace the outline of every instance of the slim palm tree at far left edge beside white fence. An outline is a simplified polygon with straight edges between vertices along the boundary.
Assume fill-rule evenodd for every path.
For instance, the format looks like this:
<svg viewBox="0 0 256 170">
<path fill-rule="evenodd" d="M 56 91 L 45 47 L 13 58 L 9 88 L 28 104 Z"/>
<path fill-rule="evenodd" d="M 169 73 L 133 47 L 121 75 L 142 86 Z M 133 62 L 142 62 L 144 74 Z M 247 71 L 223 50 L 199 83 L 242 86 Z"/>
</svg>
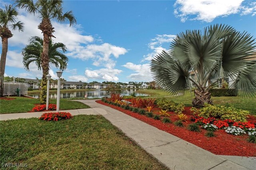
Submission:
<svg viewBox="0 0 256 170">
<path fill-rule="evenodd" d="M 6 55 L 8 51 L 8 38 L 13 36 L 12 30 L 24 31 L 24 23 L 16 22 L 18 11 L 12 5 L 5 5 L 5 9 L 0 9 L 0 36 L 2 38 L 2 54 L 0 59 L 0 97 L 4 96 L 4 71 Z"/>
</svg>

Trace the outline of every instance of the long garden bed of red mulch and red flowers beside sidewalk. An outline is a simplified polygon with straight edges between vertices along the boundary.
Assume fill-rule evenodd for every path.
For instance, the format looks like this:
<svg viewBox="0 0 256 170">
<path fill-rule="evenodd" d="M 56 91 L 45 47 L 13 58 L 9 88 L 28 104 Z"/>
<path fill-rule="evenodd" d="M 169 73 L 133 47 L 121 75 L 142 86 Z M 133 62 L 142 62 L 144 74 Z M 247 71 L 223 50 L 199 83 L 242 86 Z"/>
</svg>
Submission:
<svg viewBox="0 0 256 170">
<path fill-rule="evenodd" d="M 256 156 L 256 145 L 254 143 L 250 143 L 247 141 L 249 138 L 248 133 L 251 133 L 248 129 L 253 129 L 250 127 L 255 127 L 254 123 L 256 122 L 256 117 L 254 115 L 248 115 L 246 121 L 249 123 L 242 123 L 238 121 L 237 123 L 234 123 L 234 121 L 231 121 L 231 120 L 230 120 L 231 122 L 229 122 L 228 120 L 222 121 L 221 119 L 218 118 L 218 116 L 216 116 L 217 117 L 216 119 L 210 120 L 203 117 L 196 117 L 198 113 L 193 114 L 193 112 L 190 110 L 192 107 L 183 107 L 184 110 L 181 111 L 182 104 L 175 104 L 175 106 L 180 106 L 181 109 L 175 110 L 176 113 L 174 113 L 174 111 L 166 111 L 166 113 L 168 114 L 166 116 L 163 116 L 161 109 L 156 104 L 154 104 L 154 107 L 150 111 L 152 113 L 150 114 L 147 113 L 146 111 L 147 108 L 145 107 L 144 108 L 140 107 L 138 108 L 138 110 L 135 109 L 135 111 L 139 113 L 134 113 L 134 107 L 135 107 L 134 104 L 124 104 L 124 102 L 118 102 L 118 100 L 121 100 L 121 99 L 122 98 L 119 98 L 119 99 L 112 98 L 108 100 L 105 99 L 103 100 L 104 102 L 101 100 L 98 100 L 96 102 L 112 107 L 119 111 L 122 111 L 123 113 L 126 113 L 132 117 L 135 117 L 136 119 L 144 121 L 145 123 L 148 123 L 160 130 L 166 131 L 167 133 L 180 137 L 181 139 L 184 139 L 185 141 L 188 141 L 194 145 L 197 145 L 198 147 L 206 149 L 214 154 L 235 155 L 235 156 Z M 114 102 L 113 101 L 111 102 L 109 100 L 114 100 Z M 126 101 L 131 103 L 133 102 L 132 99 L 126 99 Z M 122 106 L 122 105 L 128 105 L 128 106 Z M 133 107 L 133 109 L 131 108 L 131 106 Z M 141 111 L 142 109 L 144 111 Z M 192 109 L 192 110 L 196 112 L 195 109 Z M 183 118 L 186 116 L 188 117 L 187 119 L 184 118 L 184 121 L 182 121 L 182 124 L 184 125 L 184 127 L 178 127 L 176 126 L 177 125 L 176 123 L 175 123 L 176 125 L 174 125 L 174 122 L 177 122 L 179 120 L 177 115 L 180 113 L 184 114 Z M 245 112 L 245 114 L 247 114 L 247 112 Z M 155 116 L 155 115 L 159 115 L 159 116 Z M 227 115 L 224 115 L 224 116 L 227 116 Z M 157 117 L 159 117 L 160 120 L 157 120 Z M 172 123 L 163 123 L 162 122 L 163 119 L 170 119 Z M 237 117 L 234 119 L 237 119 Z M 194 125 L 194 123 L 200 124 L 199 127 L 202 126 L 202 128 L 199 129 L 200 130 L 199 133 L 194 131 L 189 131 L 187 129 L 189 125 Z M 210 125 L 206 123 L 210 123 L 210 124 L 212 123 L 212 124 L 215 124 L 217 127 L 220 127 L 213 132 L 215 137 L 205 136 L 206 133 L 209 133 L 209 132 L 212 133 L 212 131 L 206 130 L 208 127 L 206 127 L 206 129 L 203 128 L 205 125 Z M 234 125 L 236 125 L 237 127 L 244 126 L 243 129 L 246 130 L 246 134 L 243 134 L 243 135 L 229 134 L 231 132 L 233 133 L 233 131 L 231 130 L 228 131 L 227 129 L 228 127 L 224 129 L 224 125 L 227 125 L 227 124 L 229 128 L 231 128 Z M 256 135 L 256 134 L 253 134 L 253 135 Z"/>
</svg>

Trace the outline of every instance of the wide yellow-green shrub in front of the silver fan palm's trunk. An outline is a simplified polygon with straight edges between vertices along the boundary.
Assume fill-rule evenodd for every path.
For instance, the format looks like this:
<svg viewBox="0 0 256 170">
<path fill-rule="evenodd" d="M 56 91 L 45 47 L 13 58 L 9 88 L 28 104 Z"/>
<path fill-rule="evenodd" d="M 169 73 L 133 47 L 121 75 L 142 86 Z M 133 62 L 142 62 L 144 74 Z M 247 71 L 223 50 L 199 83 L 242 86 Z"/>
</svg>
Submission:
<svg viewBox="0 0 256 170">
<path fill-rule="evenodd" d="M 221 119 L 230 119 L 232 121 L 246 121 L 249 115 L 248 111 L 236 109 L 234 106 L 219 106 L 205 104 L 200 110 L 190 109 L 193 113 L 198 114 L 200 117 L 220 117 Z"/>
</svg>

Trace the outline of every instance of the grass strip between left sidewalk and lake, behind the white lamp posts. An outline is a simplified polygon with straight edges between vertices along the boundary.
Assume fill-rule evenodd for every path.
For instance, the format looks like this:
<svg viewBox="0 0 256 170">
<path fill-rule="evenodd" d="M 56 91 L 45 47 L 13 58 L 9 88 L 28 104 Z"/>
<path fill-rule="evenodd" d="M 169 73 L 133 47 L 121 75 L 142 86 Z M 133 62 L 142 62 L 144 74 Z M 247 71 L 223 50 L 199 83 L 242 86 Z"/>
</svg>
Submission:
<svg viewBox="0 0 256 170">
<path fill-rule="evenodd" d="M 39 99 L 24 98 L 24 97 L 9 97 L 15 98 L 14 100 L 0 100 L 0 113 L 23 113 L 31 111 L 34 104 L 39 104 Z M 50 104 L 56 104 L 56 99 L 51 99 Z M 86 104 L 76 101 L 69 101 L 66 99 L 60 99 L 60 110 L 71 110 L 71 109 L 84 109 L 90 108 Z"/>
</svg>

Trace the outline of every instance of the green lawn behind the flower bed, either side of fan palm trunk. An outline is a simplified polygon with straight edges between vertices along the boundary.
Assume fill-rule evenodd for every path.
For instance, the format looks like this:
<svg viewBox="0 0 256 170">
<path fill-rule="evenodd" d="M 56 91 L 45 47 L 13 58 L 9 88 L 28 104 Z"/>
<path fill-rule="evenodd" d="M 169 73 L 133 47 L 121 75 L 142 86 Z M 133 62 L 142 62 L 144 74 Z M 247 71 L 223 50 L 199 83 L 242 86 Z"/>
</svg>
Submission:
<svg viewBox="0 0 256 170">
<path fill-rule="evenodd" d="M 166 97 L 173 100 L 176 103 L 184 102 L 186 106 L 192 106 L 192 99 L 194 98 L 194 93 L 192 95 L 190 92 L 185 94 L 184 96 L 171 96 L 168 92 L 164 90 L 153 90 L 153 89 L 146 89 L 146 90 L 138 90 L 137 92 L 149 94 L 150 97 Z M 250 111 L 252 114 L 256 115 L 256 98 L 243 98 L 241 96 L 231 96 L 231 97 L 212 97 L 214 104 L 220 105 L 233 105 L 236 108 L 244 109 Z"/>
</svg>

